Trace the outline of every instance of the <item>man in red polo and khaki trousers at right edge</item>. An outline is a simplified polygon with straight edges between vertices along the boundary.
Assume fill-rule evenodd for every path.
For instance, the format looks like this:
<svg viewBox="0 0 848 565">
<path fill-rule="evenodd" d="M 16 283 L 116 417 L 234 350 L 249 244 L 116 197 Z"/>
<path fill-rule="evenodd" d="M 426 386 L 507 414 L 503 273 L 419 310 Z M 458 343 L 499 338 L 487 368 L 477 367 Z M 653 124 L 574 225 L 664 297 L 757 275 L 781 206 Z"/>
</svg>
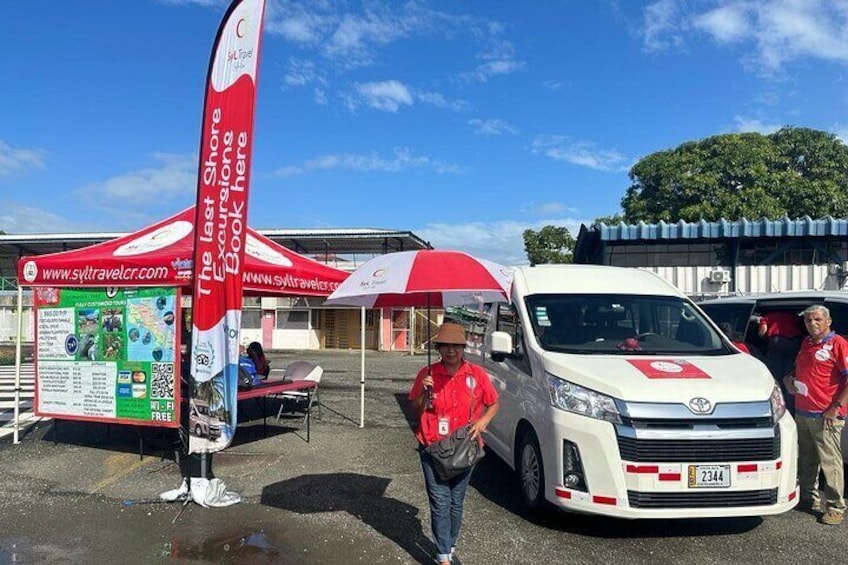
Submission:
<svg viewBox="0 0 848 565">
<path fill-rule="evenodd" d="M 795 395 L 798 425 L 798 482 L 801 504 L 824 511 L 822 524 L 842 523 L 845 512 L 840 439 L 848 404 L 848 341 L 831 331 L 830 311 L 810 306 L 801 315 L 808 337 L 801 342 L 795 370 L 783 381 Z M 819 471 L 824 474 L 825 504 L 819 500 Z"/>
</svg>

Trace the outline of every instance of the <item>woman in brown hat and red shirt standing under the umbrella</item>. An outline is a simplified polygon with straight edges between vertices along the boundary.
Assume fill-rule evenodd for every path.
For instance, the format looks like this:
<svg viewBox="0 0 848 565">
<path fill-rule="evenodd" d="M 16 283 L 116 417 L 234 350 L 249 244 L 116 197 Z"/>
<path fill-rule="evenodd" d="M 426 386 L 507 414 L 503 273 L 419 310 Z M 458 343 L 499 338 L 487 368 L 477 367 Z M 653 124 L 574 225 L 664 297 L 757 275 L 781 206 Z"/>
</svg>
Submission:
<svg viewBox="0 0 848 565">
<path fill-rule="evenodd" d="M 465 491 L 473 467 L 443 481 L 436 475 L 425 448 L 463 426 L 469 426 L 470 437 L 482 443 L 480 435 L 498 411 L 498 393 L 482 367 L 463 359 L 466 338 L 461 325 L 442 324 L 433 342 L 441 359 L 418 372 L 409 400 L 418 416 L 415 436 L 430 501 L 430 525 L 438 550 L 436 560 L 448 565 L 456 549 Z"/>
</svg>

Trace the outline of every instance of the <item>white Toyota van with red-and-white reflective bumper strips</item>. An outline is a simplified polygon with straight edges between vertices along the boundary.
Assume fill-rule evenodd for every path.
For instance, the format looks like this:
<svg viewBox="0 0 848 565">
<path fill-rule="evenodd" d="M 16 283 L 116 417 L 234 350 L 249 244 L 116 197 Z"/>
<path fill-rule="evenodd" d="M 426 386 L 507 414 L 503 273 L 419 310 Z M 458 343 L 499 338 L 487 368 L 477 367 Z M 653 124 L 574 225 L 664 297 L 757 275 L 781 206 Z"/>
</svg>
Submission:
<svg viewBox="0 0 848 565">
<path fill-rule="evenodd" d="M 780 389 L 657 275 L 519 267 L 511 303 L 478 314 L 468 359 L 501 402 L 486 441 L 528 506 L 681 518 L 797 504 L 797 435 Z"/>
</svg>

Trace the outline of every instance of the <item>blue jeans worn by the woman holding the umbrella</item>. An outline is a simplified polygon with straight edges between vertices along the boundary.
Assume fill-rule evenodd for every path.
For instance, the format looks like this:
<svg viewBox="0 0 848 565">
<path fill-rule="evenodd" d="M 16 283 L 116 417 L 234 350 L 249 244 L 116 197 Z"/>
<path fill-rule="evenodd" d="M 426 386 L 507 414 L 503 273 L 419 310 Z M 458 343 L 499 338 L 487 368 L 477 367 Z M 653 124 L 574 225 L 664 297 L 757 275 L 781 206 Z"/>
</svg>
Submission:
<svg viewBox="0 0 848 565">
<path fill-rule="evenodd" d="M 465 501 L 465 491 L 471 480 L 473 468 L 448 481 L 442 481 L 433 469 L 433 458 L 418 446 L 421 456 L 421 468 L 424 471 L 424 484 L 427 486 L 427 497 L 430 500 L 430 526 L 436 541 L 439 561 L 450 561 L 451 548 L 456 546 L 459 537 L 459 527 L 462 524 L 462 505 Z"/>
</svg>

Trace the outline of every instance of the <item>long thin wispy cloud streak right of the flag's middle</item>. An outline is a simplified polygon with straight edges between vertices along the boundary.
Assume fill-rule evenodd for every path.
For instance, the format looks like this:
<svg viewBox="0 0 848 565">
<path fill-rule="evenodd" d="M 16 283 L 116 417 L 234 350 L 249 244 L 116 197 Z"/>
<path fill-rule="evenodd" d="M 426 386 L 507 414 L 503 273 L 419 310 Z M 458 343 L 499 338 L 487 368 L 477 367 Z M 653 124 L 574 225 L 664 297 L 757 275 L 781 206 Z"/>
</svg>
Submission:
<svg viewBox="0 0 848 565">
<path fill-rule="evenodd" d="M 331 170 L 399 173 L 415 169 L 430 169 L 436 173 L 461 173 L 464 170 L 459 165 L 445 163 L 424 155 L 415 155 L 409 149 L 401 147 L 395 149 L 394 155 L 390 158 L 380 157 L 375 153 L 371 153 L 370 155 L 356 155 L 351 153 L 321 155 L 304 162 L 302 165 L 278 169 L 276 174 L 279 176 L 292 176 L 313 171 Z"/>
</svg>

